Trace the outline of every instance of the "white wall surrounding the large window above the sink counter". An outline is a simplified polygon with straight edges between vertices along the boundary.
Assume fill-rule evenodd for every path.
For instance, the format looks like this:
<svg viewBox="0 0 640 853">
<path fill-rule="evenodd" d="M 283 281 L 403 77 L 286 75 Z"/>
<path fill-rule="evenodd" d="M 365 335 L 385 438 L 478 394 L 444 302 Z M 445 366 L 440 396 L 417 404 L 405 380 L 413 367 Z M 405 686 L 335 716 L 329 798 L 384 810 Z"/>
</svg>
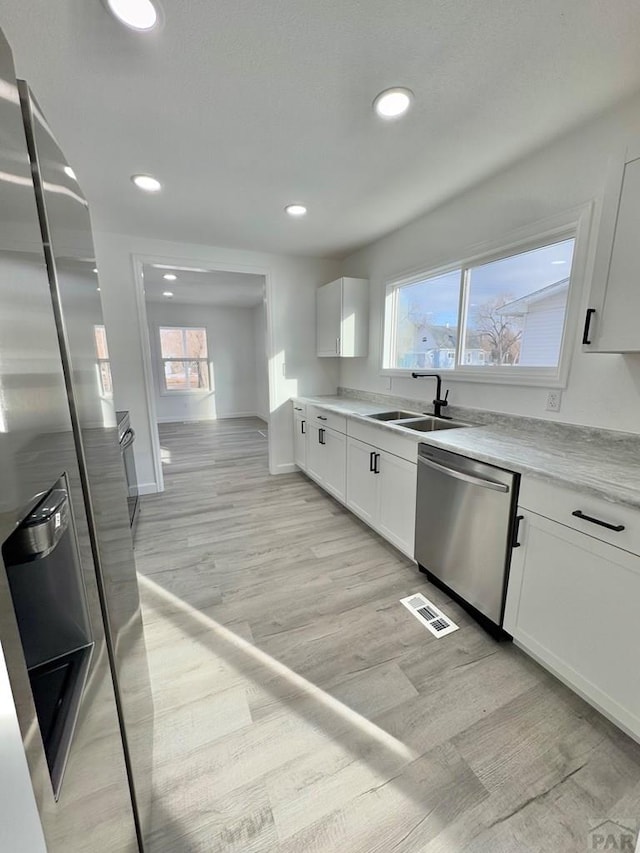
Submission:
<svg viewBox="0 0 640 853">
<path fill-rule="evenodd" d="M 532 118 L 535 120 L 535 118 Z M 385 283 L 405 271 L 429 269 L 470 254 L 476 244 L 508 242 L 510 232 L 599 200 L 610 155 L 640 138 L 640 97 L 610 110 L 525 160 L 470 189 L 350 256 L 341 274 L 365 276 L 371 288 L 371 337 L 367 359 L 343 360 L 340 384 L 379 393 L 431 400 L 420 380 L 379 373 Z M 596 225 L 599 205 L 596 207 Z M 579 310 L 587 307 L 587 265 Z M 580 323 L 580 326 L 582 324 Z M 580 329 L 581 331 L 581 329 Z M 583 353 L 573 342 L 568 386 L 559 413 L 545 411 L 547 389 L 447 381 L 452 404 L 640 431 L 640 356 Z"/>
</svg>

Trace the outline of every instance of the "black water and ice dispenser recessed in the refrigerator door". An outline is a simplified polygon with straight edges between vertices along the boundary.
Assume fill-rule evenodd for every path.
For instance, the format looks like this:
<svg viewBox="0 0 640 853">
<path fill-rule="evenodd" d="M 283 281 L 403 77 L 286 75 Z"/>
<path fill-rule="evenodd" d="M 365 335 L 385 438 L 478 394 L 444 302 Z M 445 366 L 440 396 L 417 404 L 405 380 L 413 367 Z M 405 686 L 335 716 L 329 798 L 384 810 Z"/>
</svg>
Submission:
<svg viewBox="0 0 640 853">
<path fill-rule="evenodd" d="M 57 800 L 94 646 L 66 475 L 2 556 Z"/>
</svg>

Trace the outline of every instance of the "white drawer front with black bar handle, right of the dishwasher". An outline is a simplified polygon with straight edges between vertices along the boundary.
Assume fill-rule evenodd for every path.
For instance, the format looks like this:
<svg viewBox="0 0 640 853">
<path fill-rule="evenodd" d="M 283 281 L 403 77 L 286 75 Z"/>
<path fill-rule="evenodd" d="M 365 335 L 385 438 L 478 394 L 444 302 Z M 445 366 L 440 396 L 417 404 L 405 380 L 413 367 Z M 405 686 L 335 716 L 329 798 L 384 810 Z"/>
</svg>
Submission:
<svg viewBox="0 0 640 853">
<path fill-rule="evenodd" d="M 640 555 L 640 510 L 528 477 L 522 478 L 518 503 L 580 533 Z M 574 515 L 575 512 L 583 517 Z M 603 524 L 623 529 L 612 530 Z"/>
</svg>

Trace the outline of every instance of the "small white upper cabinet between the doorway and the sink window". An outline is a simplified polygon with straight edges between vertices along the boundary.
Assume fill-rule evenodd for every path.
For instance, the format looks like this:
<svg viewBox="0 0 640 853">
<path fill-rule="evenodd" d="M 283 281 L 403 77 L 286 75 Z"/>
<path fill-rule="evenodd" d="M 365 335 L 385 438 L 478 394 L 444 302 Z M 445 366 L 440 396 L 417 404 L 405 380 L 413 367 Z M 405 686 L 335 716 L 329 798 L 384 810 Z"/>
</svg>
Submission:
<svg viewBox="0 0 640 853">
<path fill-rule="evenodd" d="M 317 352 L 357 358 L 369 349 L 369 282 L 338 278 L 317 291 Z"/>
</svg>

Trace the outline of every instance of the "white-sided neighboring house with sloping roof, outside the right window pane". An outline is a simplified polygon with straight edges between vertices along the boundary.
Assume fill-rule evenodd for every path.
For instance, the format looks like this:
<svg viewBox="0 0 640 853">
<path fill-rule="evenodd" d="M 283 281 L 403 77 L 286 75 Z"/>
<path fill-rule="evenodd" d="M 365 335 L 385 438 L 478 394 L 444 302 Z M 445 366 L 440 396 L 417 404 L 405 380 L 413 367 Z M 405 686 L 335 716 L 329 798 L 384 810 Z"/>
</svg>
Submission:
<svg viewBox="0 0 640 853">
<path fill-rule="evenodd" d="M 503 317 L 522 318 L 521 367 L 555 367 L 560 358 L 569 279 L 563 278 L 497 309 Z"/>
</svg>

